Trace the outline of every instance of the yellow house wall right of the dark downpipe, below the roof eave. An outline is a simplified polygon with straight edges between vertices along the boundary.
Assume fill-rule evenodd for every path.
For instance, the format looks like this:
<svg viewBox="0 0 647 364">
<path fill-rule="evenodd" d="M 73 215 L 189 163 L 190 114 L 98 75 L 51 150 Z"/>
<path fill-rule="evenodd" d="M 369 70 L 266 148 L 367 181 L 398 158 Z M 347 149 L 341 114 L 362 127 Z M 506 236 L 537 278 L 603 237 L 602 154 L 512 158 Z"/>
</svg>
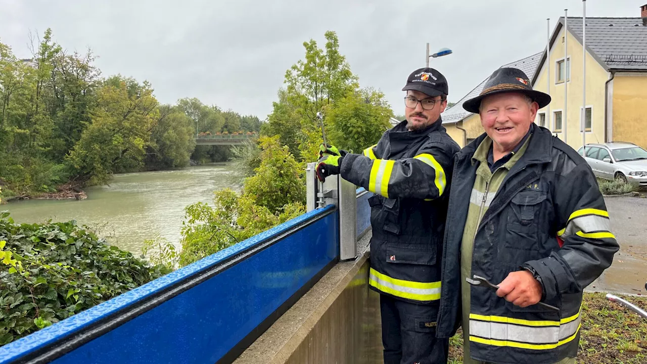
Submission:
<svg viewBox="0 0 647 364">
<path fill-rule="evenodd" d="M 616 74 L 613 79 L 613 141 L 647 148 L 647 74 Z"/>
</svg>

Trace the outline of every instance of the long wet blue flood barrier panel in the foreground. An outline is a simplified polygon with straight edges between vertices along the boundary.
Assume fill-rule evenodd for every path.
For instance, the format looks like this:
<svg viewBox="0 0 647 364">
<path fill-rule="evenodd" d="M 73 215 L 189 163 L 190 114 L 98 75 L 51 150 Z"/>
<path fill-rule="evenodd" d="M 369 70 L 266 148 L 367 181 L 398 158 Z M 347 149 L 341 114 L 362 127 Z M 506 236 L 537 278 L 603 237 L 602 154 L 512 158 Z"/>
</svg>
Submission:
<svg viewBox="0 0 647 364">
<path fill-rule="evenodd" d="M 51 361 L 56 364 L 213 364 L 240 346 L 241 340 L 259 324 L 336 262 L 337 221 L 338 211 L 334 206 L 303 214 L 5 345 L 0 348 L 0 364 L 23 362 L 21 359 L 27 354 L 48 345 L 62 346 L 59 344 L 83 328 L 97 326 L 135 302 L 151 299 L 182 280 L 192 279 L 218 264 L 226 264 L 233 256 L 258 248 L 239 261 L 234 258 L 231 266 L 204 282 Z"/>
</svg>

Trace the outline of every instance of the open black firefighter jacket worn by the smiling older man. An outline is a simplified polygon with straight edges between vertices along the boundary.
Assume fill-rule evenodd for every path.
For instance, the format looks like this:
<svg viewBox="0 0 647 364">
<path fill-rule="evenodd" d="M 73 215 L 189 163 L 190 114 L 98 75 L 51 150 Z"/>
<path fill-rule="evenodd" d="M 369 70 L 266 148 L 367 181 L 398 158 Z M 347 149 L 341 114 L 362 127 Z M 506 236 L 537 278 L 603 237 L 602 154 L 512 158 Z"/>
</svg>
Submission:
<svg viewBox="0 0 647 364">
<path fill-rule="evenodd" d="M 470 354 L 493 363 L 554 363 L 575 357 L 582 291 L 611 265 L 619 249 L 589 165 L 575 150 L 534 124 L 529 146 L 505 177 L 477 227 L 472 275 L 498 284 L 527 268 L 542 282 L 543 302 L 521 308 L 472 286 Z M 485 134 L 455 156 L 444 237 L 437 335 L 454 334 L 461 317 L 460 251 Z"/>
</svg>

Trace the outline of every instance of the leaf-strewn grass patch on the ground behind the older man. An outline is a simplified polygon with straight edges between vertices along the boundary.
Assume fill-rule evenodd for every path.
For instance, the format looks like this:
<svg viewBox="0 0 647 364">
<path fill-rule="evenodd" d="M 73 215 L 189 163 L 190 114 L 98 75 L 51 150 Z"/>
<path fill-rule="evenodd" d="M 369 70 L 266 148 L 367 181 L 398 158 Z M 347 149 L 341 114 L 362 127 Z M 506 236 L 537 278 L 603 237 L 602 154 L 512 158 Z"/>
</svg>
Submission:
<svg viewBox="0 0 647 364">
<path fill-rule="evenodd" d="M 647 308 L 647 297 L 620 296 Z M 463 363 L 463 332 L 450 339 L 449 363 Z M 647 363 L 647 319 L 609 302 L 604 293 L 584 293 L 578 363 Z"/>
</svg>

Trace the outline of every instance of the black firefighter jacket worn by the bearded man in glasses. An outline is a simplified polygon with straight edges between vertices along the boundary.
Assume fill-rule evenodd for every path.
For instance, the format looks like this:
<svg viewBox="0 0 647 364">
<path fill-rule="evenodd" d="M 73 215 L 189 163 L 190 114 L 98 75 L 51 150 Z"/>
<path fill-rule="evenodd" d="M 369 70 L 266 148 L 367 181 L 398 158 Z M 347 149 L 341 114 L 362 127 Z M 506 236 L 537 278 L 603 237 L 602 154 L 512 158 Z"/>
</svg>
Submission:
<svg viewBox="0 0 647 364">
<path fill-rule="evenodd" d="M 364 155 L 347 154 L 341 176 L 376 195 L 371 205 L 373 290 L 422 304 L 440 298 L 440 262 L 452 161 L 459 146 L 439 118 L 422 131 L 406 120 Z"/>
</svg>

